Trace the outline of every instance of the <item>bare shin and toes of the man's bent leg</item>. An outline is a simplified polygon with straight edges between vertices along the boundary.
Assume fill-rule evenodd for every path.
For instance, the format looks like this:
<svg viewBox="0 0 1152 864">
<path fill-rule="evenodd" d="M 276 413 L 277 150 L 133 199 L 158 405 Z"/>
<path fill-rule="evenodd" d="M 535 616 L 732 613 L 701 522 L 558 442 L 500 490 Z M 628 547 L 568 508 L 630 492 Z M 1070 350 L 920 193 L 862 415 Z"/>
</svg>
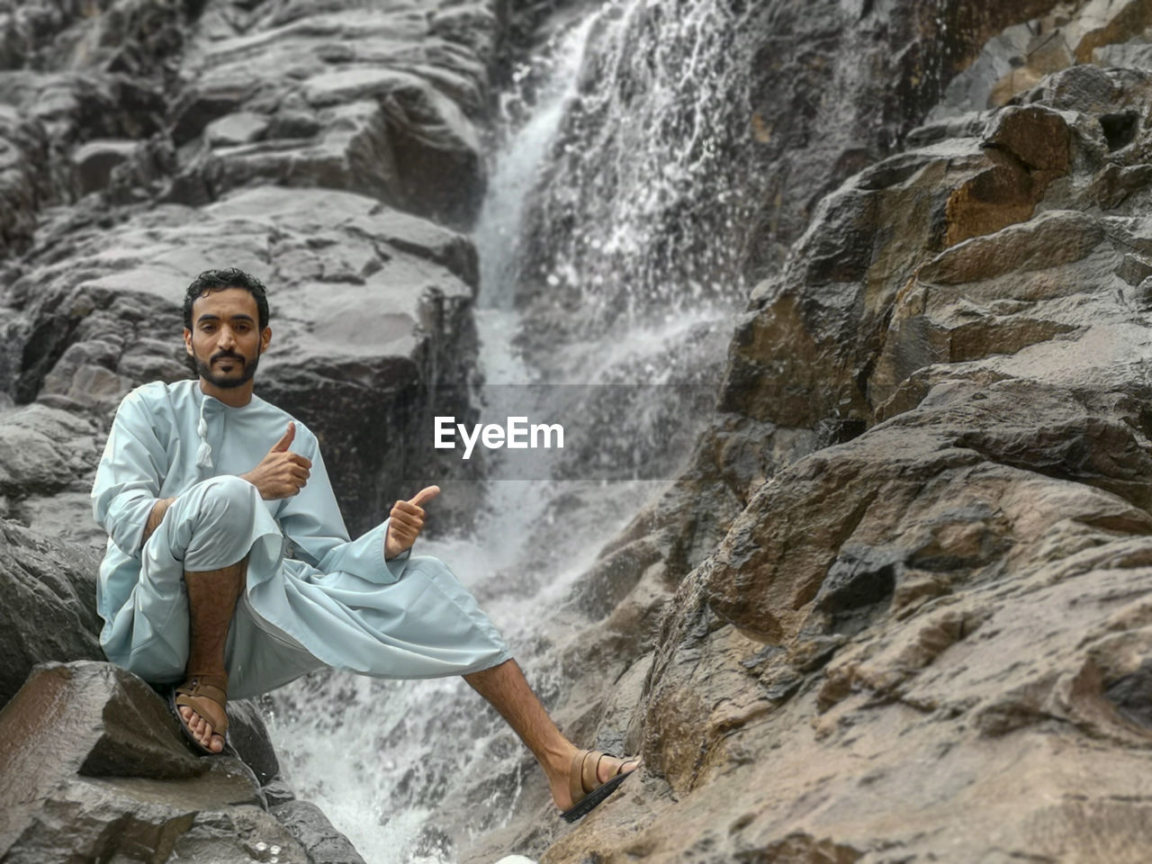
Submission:
<svg viewBox="0 0 1152 864">
<path fill-rule="evenodd" d="M 220 570 L 185 573 L 189 617 L 189 675 L 225 675 L 225 646 L 228 628 L 236 611 L 236 601 L 244 590 L 248 559 Z M 180 714 L 192 735 L 212 752 L 223 750 L 223 736 L 213 734 L 212 723 L 188 705 L 180 706 Z"/>
</svg>

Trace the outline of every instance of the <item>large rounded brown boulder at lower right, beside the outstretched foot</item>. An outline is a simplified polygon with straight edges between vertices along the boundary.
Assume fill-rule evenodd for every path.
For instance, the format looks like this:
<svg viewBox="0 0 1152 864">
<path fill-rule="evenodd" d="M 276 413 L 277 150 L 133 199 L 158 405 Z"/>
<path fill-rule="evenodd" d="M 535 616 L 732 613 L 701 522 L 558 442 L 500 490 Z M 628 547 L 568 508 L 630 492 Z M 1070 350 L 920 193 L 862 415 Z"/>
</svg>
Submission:
<svg viewBox="0 0 1152 864">
<path fill-rule="evenodd" d="M 1079 477 L 953 444 L 1008 418 L 1038 435 L 1076 404 L 1033 387 L 938 385 L 765 484 L 666 617 L 642 700 L 649 783 L 543 859 L 692 848 L 729 861 L 804 834 L 857 856 L 946 842 L 977 859 L 1099 846 L 1138 861 L 1143 804 L 1105 802 L 1138 786 L 1120 766 L 1145 749 L 1129 682 L 1143 674 L 1152 521 Z M 1001 772 L 1062 803 L 994 793 Z M 680 803 L 660 803 L 657 782 Z M 1021 819 L 1048 829 L 1022 834 Z"/>
</svg>

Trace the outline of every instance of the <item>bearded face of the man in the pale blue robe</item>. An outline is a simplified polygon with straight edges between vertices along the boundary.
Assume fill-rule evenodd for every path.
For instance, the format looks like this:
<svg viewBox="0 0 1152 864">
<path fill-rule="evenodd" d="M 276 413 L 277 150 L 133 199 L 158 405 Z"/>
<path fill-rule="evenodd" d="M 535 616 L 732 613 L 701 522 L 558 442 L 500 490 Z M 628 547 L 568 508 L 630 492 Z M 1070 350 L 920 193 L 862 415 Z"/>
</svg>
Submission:
<svg viewBox="0 0 1152 864">
<path fill-rule="evenodd" d="M 262 333 L 256 297 L 243 288 L 202 294 L 192 303 L 192 328 L 184 328 L 184 348 L 196 372 L 228 389 L 252 380 L 272 331 Z"/>
</svg>

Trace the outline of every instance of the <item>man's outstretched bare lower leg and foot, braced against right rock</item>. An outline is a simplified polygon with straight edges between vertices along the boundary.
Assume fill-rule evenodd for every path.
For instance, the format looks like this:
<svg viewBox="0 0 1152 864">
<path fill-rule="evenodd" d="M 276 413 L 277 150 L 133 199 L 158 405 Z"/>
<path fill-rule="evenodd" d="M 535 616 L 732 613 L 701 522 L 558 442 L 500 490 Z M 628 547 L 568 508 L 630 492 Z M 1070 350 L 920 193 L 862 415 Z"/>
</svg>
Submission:
<svg viewBox="0 0 1152 864">
<path fill-rule="evenodd" d="M 491 669 L 464 675 L 464 681 L 500 712 L 532 751 L 548 778 L 548 788 L 556 806 L 561 810 L 571 808 L 568 775 L 578 748 L 560 734 L 560 729 L 528 685 L 516 661 L 507 660 Z M 622 764 L 622 759 L 602 759 L 597 772 L 599 781 L 602 783 L 609 780 Z"/>
</svg>

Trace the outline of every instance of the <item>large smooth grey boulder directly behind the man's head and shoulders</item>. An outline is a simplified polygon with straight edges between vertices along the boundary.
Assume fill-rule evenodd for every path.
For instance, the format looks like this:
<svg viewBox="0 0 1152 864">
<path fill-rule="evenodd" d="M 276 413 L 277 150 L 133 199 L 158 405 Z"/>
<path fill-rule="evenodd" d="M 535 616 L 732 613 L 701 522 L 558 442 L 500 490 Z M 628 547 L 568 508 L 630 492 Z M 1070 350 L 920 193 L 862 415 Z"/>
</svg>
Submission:
<svg viewBox="0 0 1152 864">
<path fill-rule="evenodd" d="M 442 456 L 415 430 L 430 423 L 434 387 L 448 393 L 439 408 L 463 416 L 476 350 L 476 252 L 461 235 L 364 196 L 259 187 L 199 211 L 168 206 L 115 227 L 92 225 L 67 243 L 65 263 L 9 290 L 25 341 L 17 396 L 107 422 L 131 387 L 185 378 L 183 288 L 210 266 L 240 266 L 271 289 L 275 336 L 259 392 L 324 438 L 351 530 L 379 521 L 402 494 L 393 484 L 418 479 L 389 477 L 389 469 L 425 464 L 434 476 Z M 13 441 L 32 434 L 23 429 L 14 427 Z M 385 429 L 394 431 L 382 446 L 362 446 L 363 435 L 376 440 Z M 26 447 L 26 458 L 13 450 L 10 465 L 0 458 L 12 475 L 5 488 L 44 494 L 66 480 L 91 482 L 97 442 L 58 448 L 45 438 L 40 450 L 36 458 Z"/>
</svg>

